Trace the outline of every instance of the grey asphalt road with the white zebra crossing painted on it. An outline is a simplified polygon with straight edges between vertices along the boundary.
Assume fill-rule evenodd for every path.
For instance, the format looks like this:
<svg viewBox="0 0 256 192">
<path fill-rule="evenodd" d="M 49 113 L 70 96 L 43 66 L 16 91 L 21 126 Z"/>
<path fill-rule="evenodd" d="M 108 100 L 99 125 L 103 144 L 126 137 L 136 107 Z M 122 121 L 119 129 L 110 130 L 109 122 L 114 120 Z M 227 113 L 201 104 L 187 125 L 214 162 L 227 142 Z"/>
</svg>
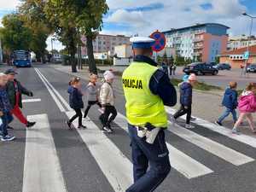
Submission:
<svg viewBox="0 0 256 192">
<path fill-rule="evenodd" d="M 116 92 L 114 134 L 102 134 L 96 107 L 90 110 L 91 121 L 84 121 L 87 130 L 69 131 L 65 120 L 73 112 L 67 105 L 67 83 L 72 76 L 42 65 L 18 72 L 38 99 L 28 102 L 31 98 L 24 97 L 23 112 L 38 124 L 26 130 L 15 120 L 10 133 L 17 139 L 0 143 L 0 191 L 125 191 L 132 182 L 132 167 L 122 93 Z M 173 168 L 156 191 L 256 191 L 255 138 L 235 137 L 204 121 L 196 121 L 194 130 L 184 129 L 183 119 L 179 125 L 166 131 Z"/>
</svg>

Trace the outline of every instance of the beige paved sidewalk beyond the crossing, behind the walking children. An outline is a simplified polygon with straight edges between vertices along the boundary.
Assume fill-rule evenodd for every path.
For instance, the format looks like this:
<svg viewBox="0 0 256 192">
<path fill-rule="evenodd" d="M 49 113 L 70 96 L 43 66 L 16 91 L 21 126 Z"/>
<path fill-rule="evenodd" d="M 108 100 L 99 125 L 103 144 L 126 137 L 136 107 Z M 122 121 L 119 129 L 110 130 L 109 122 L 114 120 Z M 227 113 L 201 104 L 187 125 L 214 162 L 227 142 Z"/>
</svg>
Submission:
<svg viewBox="0 0 256 192">
<path fill-rule="evenodd" d="M 61 65 L 49 65 L 49 67 L 53 67 L 56 70 L 59 70 L 63 73 L 69 73 L 73 74 L 81 79 L 88 80 L 89 79 L 89 73 L 88 73 L 88 67 L 84 67 L 83 70 L 79 70 L 78 73 L 71 73 L 71 67 L 68 66 L 61 66 Z M 109 69 L 109 67 L 99 67 L 100 69 Z M 102 74 L 99 74 L 100 78 L 102 78 Z M 121 80 L 118 77 L 118 80 L 116 80 L 113 84 L 115 91 L 120 95 L 123 96 L 123 89 Z M 177 90 L 177 95 L 179 91 Z M 206 119 L 207 121 L 214 122 L 216 119 L 218 119 L 218 116 L 223 112 L 224 108 L 221 107 L 222 102 L 222 96 L 223 92 L 221 91 L 214 91 L 214 92 L 202 92 L 194 90 L 193 93 L 193 106 L 192 106 L 192 115 L 201 119 Z M 179 104 L 177 104 L 175 109 L 179 108 Z M 256 114 L 253 114 L 253 118 L 256 119 Z M 223 122 L 224 126 L 227 128 L 233 127 L 233 120 L 230 117 L 225 119 Z M 220 128 L 221 129 L 221 128 Z M 244 134 L 256 137 L 255 134 L 251 133 L 249 127 L 246 125 L 241 126 L 241 131 Z"/>
</svg>

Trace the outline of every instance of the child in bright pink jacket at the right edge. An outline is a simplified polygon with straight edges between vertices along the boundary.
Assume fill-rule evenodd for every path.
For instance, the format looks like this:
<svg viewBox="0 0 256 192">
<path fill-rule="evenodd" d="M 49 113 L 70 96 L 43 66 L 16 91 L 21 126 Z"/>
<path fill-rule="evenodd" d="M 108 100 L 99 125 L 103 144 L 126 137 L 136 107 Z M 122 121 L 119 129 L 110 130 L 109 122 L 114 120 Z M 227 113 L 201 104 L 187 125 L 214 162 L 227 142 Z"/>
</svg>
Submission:
<svg viewBox="0 0 256 192">
<path fill-rule="evenodd" d="M 241 97 L 238 101 L 238 109 L 240 111 L 240 115 L 232 129 L 232 133 L 239 133 L 237 127 L 241 124 L 244 118 L 247 119 L 253 133 L 256 133 L 252 115 L 252 113 L 256 112 L 256 83 L 248 84 L 247 89 L 241 93 Z"/>
</svg>

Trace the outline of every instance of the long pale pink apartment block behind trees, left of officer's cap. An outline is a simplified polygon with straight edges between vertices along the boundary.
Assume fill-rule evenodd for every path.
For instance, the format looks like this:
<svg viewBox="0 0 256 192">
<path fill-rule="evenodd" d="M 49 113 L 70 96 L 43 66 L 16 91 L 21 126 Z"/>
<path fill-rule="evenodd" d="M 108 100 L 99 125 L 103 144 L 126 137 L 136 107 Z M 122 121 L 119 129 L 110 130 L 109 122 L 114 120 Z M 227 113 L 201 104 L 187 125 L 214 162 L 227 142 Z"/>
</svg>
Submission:
<svg viewBox="0 0 256 192">
<path fill-rule="evenodd" d="M 86 37 L 81 38 L 82 42 L 86 44 Z M 102 35 L 99 34 L 93 41 L 94 53 L 110 53 L 113 55 L 114 47 L 122 44 L 130 44 L 130 37 L 124 35 Z M 86 45 L 82 47 L 82 55 L 87 55 Z"/>
</svg>

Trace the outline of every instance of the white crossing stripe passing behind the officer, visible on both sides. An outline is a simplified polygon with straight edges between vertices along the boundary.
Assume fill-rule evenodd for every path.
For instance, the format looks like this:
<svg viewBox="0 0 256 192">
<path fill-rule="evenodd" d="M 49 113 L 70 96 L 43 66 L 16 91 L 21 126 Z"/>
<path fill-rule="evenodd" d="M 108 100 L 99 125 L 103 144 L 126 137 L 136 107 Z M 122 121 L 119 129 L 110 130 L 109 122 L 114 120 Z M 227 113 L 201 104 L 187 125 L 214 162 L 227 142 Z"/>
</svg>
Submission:
<svg viewBox="0 0 256 192">
<path fill-rule="evenodd" d="M 118 113 L 114 122 L 125 131 L 128 131 L 127 120 L 123 114 Z M 170 152 L 169 157 L 172 167 L 177 170 L 177 172 L 183 174 L 184 177 L 201 177 L 213 172 L 207 166 L 189 157 L 189 155 L 183 154 L 183 152 L 179 151 L 177 148 L 172 147 L 171 144 L 166 143 L 166 146 Z"/>
</svg>

